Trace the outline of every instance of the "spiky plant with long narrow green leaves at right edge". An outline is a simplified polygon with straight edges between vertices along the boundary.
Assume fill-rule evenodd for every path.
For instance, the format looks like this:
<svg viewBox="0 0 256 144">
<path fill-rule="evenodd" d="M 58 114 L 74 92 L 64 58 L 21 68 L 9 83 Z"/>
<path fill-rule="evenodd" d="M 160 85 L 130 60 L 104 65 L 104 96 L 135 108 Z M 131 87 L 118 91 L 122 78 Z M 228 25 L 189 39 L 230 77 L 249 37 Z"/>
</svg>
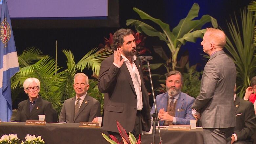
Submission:
<svg viewBox="0 0 256 144">
<path fill-rule="evenodd" d="M 229 35 L 225 48 L 236 65 L 238 96 L 243 97 L 245 89 L 250 85 L 250 79 L 256 72 L 256 54 L 254 26 L 256 17 L 253 11 L 241 10 L 241 21 L 236 15 L 227 22 Z"/>
</svg>

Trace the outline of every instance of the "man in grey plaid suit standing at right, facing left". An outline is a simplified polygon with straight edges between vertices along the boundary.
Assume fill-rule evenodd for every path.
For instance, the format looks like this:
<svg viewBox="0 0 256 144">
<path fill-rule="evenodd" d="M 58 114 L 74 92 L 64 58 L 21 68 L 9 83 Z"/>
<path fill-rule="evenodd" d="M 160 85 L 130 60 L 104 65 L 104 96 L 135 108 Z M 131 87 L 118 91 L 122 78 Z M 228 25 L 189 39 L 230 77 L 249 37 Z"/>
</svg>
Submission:
<svg viewBox="0 0 256 144">
<path fill-rule="evenodd" d="M 223 48 L 226 35 L 215 28 L 207 28 L 201 45 L 210 56 L 204 67 L 200 93 L 192 105 L 196 119 L 201 117 L 205 144 L 224 144 L 231 137 L 235 121 L 233 102 L 236 67 Z"/>
</svg>

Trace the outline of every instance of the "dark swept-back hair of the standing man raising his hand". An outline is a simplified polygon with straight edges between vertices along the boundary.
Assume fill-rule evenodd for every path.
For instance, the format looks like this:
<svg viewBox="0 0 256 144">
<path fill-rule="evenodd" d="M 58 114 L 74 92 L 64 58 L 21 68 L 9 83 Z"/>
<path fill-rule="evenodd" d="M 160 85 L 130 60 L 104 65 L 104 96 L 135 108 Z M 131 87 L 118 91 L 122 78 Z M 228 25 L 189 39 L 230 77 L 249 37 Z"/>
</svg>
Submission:
<svg viewBox="0 0 256 144">
<path fill-rule="evenodd" d="M 112 50 L 116 50 L 118 47 L 123 45 L 123 38 L 127 35 L 133 34 L 134 32 L 131 29 L 119 29 L 113 35 L 113 45 Z"/>
</svg>

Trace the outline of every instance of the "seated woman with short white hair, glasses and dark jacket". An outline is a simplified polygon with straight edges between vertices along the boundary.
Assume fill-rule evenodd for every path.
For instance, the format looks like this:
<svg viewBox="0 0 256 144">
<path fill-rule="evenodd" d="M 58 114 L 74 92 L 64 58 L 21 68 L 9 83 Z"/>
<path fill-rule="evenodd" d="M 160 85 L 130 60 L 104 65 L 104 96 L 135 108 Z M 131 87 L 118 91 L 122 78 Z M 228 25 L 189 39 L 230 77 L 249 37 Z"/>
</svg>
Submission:
<svg viewBox="0 0 256 144">
<path fill-rule="evenodd" d="M 37 78 L 27 78 L 23 87 L 28 95 L 28 100 L 19 103 L 15 121 L 39 120 L 38 115 L 45 115 L 46 122 L 53 122 L 52 104 L 39 96 L 39 80 Z"/>
</svg>

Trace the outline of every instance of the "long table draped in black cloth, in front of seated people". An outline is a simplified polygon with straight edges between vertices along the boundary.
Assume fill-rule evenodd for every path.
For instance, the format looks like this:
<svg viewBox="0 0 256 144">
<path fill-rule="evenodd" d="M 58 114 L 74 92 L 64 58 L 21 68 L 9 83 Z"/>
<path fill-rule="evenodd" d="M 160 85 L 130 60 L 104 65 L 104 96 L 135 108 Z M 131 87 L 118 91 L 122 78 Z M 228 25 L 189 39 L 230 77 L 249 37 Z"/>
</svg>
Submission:
<svg viewBox="0 0 256 144">
<path fill-rule="evenodd" d="M 203 129 L 190 131 L 160 130 L 164 144 L 203 144 Z M 25 125 L 24 122 L 0 124 L 0 136 L 17 134 L 24 141 L 27 134 L 40 135 L 46 144 L 109 144 L 101 133 L 107 131 L 95 127 L 79 127 L 78 123 L 51 124 L 45 126 Z M 158 132 L 156 143 L 159 143 Z M 141 137 L 142 144 L 153 143 L 153 134 Z"/>
</svg>

